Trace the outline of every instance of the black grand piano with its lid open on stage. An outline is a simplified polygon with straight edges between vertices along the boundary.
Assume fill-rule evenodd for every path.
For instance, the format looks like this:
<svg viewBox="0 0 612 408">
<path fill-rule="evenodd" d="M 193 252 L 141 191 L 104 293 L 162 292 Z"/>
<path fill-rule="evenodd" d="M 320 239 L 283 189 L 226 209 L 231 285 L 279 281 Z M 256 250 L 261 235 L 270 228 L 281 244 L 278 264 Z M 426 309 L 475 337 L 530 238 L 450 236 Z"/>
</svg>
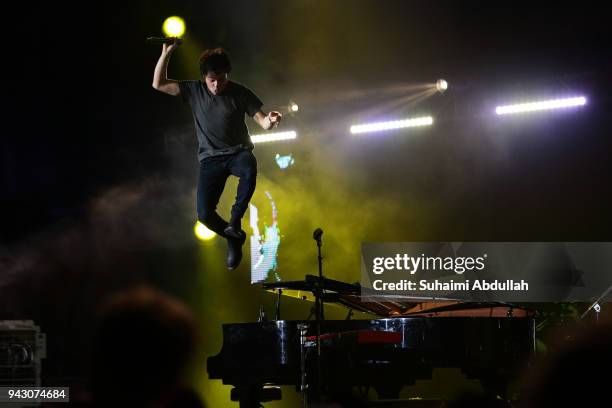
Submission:
<svg viewBox="0 0 612 408">
<path fill-rule="evenodd" d="M 234 386 L 231 399 L 241 408 L 281 399 L 279 385 L 295 385 L 303 406 L 367 406 L 370 389 L 380 400 L 397 399 L 405 385 L 431 379 L 439 367 L 460 368 L 485 394 L 505 399 L 535 349 L 534 313 L 514 305 L 368 299 L 358 284 L 311 275 L 263 287 L 278 302 L 281 295 L 320 302 L 321 314 L 281 320 L 277 304 L 276 320 L 223 325 L 223 346 L 208 358 L 208 374 Z M 379 318 L 325 320 L 324 303 Z"/>
</svg>

